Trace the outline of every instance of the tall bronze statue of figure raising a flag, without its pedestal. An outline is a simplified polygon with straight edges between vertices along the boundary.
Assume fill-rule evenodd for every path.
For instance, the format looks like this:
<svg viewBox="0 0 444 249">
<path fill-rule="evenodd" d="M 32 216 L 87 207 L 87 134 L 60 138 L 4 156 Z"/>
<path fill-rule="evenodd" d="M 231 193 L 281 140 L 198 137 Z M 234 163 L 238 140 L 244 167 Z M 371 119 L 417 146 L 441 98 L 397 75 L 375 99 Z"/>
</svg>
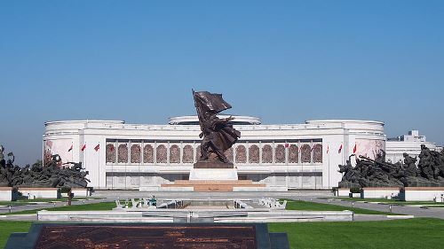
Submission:
<svg viewBox="0 0 444 249">
<path fill-rule="evenodd" d="M 224 152 L 231 148 L 241 137 L 241 132 L 233 128 L 229 121 L 234 118 L 219 119 L 217 114 L 230 109 L 232 106 L 226 103 L 221 94 L 208 91 L 194 91 L 194 105 L 201 125 L 203 137 L 201 143 L 201 158 L 198 161 L 210 160 L 210 153 L 217 156 L 219 162 L 229 164 Z"/>
</svg>

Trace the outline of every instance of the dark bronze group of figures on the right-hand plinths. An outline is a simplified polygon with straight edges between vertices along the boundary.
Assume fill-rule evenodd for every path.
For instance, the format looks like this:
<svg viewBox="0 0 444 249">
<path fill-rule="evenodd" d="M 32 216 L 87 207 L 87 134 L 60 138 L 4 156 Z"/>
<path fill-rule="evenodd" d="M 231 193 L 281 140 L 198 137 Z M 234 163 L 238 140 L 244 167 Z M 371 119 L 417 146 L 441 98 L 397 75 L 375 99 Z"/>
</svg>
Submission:
<svg viewBox="0 0 444 249">
<path fill-rule="evenodd" d="M 387 162 L 381 150 L 375 160 L 357 157 L 353 167 L 353 154 L 346 165 L 339 165 L 339 172 L 344 174 L 339 187 L 444 187 L 444 151 L 434 152 L 422 144 L 417 166 L 416 158 L 407 153 L 403 156 L 403 162 Z"/>
</svg>

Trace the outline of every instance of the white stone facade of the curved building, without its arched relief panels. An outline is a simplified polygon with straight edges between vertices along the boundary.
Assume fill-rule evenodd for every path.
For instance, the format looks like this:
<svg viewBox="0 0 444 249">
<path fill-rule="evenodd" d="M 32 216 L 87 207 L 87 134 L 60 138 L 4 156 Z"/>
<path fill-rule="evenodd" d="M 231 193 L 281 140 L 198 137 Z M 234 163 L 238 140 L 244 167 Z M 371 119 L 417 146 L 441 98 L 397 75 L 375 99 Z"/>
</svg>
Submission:
<svg viewBox="0 0 444 249">
<path fill-rule="evenodd" d="M 272 186 L 287 186 L 295 189 L 329 189 L 337 186 L 342 175 L 337 172 L 338 165 L 344 164 L 353 152 L 357 139 L 385 142 L 384 124 L 376 121 L 306 121 L 296 125 L 242 125 L 234 126 L 242 133 L 238 144 L 234 144 L 234 165 L 239 175 Z M 177 179 L 184 179 L 193 167 L 184 163 L 183 148 L 193 147 L 193 159 L 200 144 L 199 126 L 195 125 L 131 125 L 123 121 L 59 121 L 46 123 L 44 140 L 57 140 L 69 136 L 73 146 L 72 158 L 82 161 L 89 171 L 89 186 L 100 189 L 136 189 L 139 186 L 159 186 Z M 84 152 L 80 148 L 86 144 Z M 94 147 L 100 144 L 99 151 Z M 107 144 L 115 147 L 115 162 L 107 162 Z M 118 146 L 127 145 L 128 160 L 118 161 Z M 141 158 L 139 163 L 131 162 L 131 145 L 139 144 Z M 150 144 L 154 148 L 154 161 L 144 162 L 143 148 Z M 156 149 L 166 147 L 167 160 L 158 162 Z M 263 161 L 263 148 L 271 145 L 273 159 Z M 288 145 L 286 145 L 288 144 Z M 289 161 L 289 145 L 295 144 L 299 150 L 297 162 Z M 300 147 L 307 144 L 321 144 L 321 162 L 302 162 Z M 343 146 L 342 152 L 338 152 Z M 179 162 L 170 161 L 171 146 L 179 148 Z M 236 162 L 238 146 L 246 148 L 246 163 Z M 259 162 L 250 163 L 250 146 L 259 148 Z M 283 161 L 279 161 L 276 148 L 284 147 Z M 329 149 L 329 152 L 327 150 Z M 57 152 L 53 152 L 57 153 Z M 174 154 L 174 152 L 172 152 Z M 278 156 L 278 157 L 276 157 Z M 258 179 L 258 180 L 255 180 Z"/>
</svg>

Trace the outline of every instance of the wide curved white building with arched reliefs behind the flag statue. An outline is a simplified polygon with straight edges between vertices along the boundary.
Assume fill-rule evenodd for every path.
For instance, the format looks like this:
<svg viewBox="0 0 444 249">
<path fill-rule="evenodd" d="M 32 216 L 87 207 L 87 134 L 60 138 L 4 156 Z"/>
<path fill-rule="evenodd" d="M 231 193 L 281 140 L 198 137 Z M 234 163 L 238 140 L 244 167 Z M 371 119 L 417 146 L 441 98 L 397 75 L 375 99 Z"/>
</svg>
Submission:
<svg viewBox="0 0 444 249">
<path fill-rule="evenodd" d="M 262 125 L 255 117 L 235 118 L 234 128 L 242 137 L 227 157 L 239 179 L 267 186 L 330 189 L 342 177 L 337 166 L 354 148 L 369 158 L 385 149 L 380 121 Z M 168 125 L 51 121 L 45 127 L 44 161 L 59 154 L 63 162 L 83 162 L 89 186 L 96 189 L 139 189 L 186 180 L 200 154 L 201 130 L 195 116 L 170 118 Z"/>
</svg>

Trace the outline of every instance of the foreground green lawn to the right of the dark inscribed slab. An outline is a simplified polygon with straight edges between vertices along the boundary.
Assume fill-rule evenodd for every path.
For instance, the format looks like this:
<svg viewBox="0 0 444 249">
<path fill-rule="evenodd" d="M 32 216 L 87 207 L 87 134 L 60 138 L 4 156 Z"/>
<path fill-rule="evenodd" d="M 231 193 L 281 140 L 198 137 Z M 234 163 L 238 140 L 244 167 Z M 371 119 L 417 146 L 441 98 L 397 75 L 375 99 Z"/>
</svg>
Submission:
<svg viewBox="0 0 444 249">
<path fill-rule="evenodd" d="M 444 220 L 385 222 L 269 223 L 271 232 L 287 232 L 291 248 L 440 248 Z"/>
</svg>

